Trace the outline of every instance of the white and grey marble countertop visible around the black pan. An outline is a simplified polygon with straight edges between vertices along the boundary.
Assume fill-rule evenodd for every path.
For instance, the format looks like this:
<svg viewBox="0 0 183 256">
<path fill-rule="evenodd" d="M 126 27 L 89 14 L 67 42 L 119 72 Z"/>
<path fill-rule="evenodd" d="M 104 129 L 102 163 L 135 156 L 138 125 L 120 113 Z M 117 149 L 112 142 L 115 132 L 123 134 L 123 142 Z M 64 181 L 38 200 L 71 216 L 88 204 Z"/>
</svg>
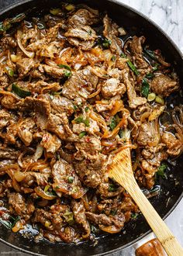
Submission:
<svg viewBox="0 0 183 256">
<path fill-rule="evenodd" d="M 18 2 L 16 0 L 0 0 L 0 9 L 11 4 L 12 2 Z M 126 5 L 133 7 L 134 9 L 142 12 L 150 19 L 154 20 L 161 29 L 174 40 L 183 52 L 183 5 L 182 0 L 119 0 Z M 178 238 L 179 242 L 183 246 L 183 199 L 179 202 L 173 213 L 167 217 L 165 222 L 171 229 L 174 235 Z M 153 234 L 150 234 L 147 238 L 150 239 Z M 144 240 L 143 240 L 144 241 Z M 142 242 L 142 241 L 141 241 Z M 136 245 L 135 245 L 136 246 Z M 26 256 L 18 251 L 12 250 L 12 248 L 0 244 L 0 254 Z M 123 251 L 111 254 L 112 256 L 133 256 L 134 247 L 128 247 Z"/>
</svg>

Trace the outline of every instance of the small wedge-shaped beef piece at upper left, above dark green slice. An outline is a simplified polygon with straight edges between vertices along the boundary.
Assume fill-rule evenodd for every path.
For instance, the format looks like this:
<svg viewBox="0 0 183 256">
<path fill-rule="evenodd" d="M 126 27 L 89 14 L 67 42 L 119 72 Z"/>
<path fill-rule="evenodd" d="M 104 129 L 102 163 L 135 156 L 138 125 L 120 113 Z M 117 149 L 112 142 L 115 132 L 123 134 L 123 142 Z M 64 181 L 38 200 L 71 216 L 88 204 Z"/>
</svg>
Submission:
<svg viewBox="0 0 183 256">
<path fill-rule="evenodd" d="M 35 61 L 31 58 L 21 58 L 16 62 L 16 67 L 19 72 L 19 78 L 25 78 L 29 71 L 35 66 Z"/>
</svg>

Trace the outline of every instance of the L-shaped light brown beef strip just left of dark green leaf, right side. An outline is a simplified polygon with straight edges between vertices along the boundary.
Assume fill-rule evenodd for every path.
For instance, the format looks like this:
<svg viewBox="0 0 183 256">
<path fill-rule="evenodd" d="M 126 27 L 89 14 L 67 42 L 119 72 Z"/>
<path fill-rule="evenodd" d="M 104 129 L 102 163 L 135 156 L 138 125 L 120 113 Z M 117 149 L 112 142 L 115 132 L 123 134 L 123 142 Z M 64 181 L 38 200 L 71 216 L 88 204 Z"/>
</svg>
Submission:
<svg viewBox="0 0 183 256">
<path fill-rule="evenodd" d="M 122 70 L 124 84 L 126 85 L 126 91 L 129 99 L 129 107 L 131 109 L 136 109 L 137 106 L 143 105 L 147 102 L 146 98 L 137 97 L 136 91 L 133 85 L 132 79 L 129 78 L 129 68 Z"/>
</svg>

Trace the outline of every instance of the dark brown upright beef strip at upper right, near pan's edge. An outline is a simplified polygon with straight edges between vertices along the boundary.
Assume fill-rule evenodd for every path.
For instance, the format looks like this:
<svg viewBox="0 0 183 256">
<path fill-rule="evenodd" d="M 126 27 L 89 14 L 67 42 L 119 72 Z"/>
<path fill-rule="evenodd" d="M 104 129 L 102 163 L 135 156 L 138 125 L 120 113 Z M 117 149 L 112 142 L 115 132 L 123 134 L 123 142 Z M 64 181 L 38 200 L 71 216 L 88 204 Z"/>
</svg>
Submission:
<svg viewBox="0 0 183 256">
<path fill-rule="evenodd" d="M 138 68 L 147 68 L 149 64 L 143 58 L 143 43 L 145 42 L 146 38 L 144 36 L 133 36 L 132 42 L 130 45 L 130 50 L 133 54 L 133 61 Z"/>
</svg>

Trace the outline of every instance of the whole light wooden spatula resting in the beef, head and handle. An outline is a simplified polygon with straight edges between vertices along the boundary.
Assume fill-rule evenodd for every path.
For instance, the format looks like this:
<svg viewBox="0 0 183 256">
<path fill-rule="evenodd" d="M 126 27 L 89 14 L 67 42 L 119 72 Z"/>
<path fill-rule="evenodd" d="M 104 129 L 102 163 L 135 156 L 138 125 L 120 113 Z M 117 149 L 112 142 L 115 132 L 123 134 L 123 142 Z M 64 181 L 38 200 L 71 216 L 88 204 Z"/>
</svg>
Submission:
<svg viewBox="0 0 183 256">
<path fill-rule="evenodd" d="M 114 161 L 109 167 L 109 177 L 114 178 L 116 182 L 123 186 L 129 195 L 139 206 L 140 211 L 146 218 L 154 234 L 161 242 L 164 250 L 169 256 L 183 256 L 183 249 L 178 243 L 178 240 L 168 229 L 167 225 L 158 215 L 154 207 L 150 204 L 143 192 L 140 190 L 139 185 L 133 175 L 132 161 L 130 149 L 126 148 L 116 154 Z"/>
</svg>

